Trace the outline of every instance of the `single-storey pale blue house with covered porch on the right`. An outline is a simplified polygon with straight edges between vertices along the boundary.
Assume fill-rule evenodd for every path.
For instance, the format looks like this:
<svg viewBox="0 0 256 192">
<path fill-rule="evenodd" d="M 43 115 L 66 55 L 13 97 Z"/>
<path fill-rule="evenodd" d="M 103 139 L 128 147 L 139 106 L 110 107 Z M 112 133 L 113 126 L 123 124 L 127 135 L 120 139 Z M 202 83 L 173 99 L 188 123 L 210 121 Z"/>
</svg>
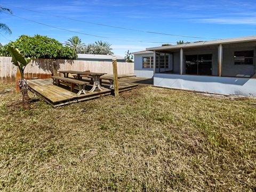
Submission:
<svg viewBox="0 0 256 192">
<path fill-rule="evenodd" d="M 256 36 L 150 47 L 134 52 L 134 74 L 154 85 L 256 98 Z"/>
</svg>

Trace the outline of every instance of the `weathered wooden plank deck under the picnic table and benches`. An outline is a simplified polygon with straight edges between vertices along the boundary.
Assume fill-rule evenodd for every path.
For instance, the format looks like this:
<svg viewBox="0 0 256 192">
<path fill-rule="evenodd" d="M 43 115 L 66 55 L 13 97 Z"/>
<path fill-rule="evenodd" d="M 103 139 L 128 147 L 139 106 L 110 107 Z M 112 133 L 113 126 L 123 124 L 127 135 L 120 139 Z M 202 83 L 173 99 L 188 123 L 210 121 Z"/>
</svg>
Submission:
<svg viewBox="0 0 256 192">
<path fill-rule="evenodd" d="M 71 92 L 69 87 L 65 85 L 56 86 L 52 84 L 52 79 L 33 79 L 27 80 L 29 90 L 36 95 L 44 98 L 53 107 L 62 105 L 68 105 L 70 103 L 85 101 L 93 98 L 103 97 L 113 93 L 113 90 L 109 89 L 109 82 L 102 81 L 103 91 L 94 91 L 93 93 L 86 93 L 77 95 L 78 90 Z M 119 92 L 131 90 L 138 86 L 145 86 L 152 84 L 151 79 L 139 78 L 139 77 L 126 77 L 118 80 Z M 90 90 L 92 85 L 86 85 L 86 90 Z"/>
</svg>

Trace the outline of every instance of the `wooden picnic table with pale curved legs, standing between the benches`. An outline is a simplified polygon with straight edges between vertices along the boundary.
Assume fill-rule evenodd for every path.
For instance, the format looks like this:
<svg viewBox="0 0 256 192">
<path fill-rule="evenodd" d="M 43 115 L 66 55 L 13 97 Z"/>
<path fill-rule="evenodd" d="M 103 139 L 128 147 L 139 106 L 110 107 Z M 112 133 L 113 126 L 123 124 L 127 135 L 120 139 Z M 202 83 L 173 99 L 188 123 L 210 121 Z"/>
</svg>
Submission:
<svg viewBox="0 0 256 192">
<path fill-rule="evenodd" d="M 86 72 L 86 71 L 73 71 L 73 70 L 64 70 L 64 71 L 58 71 L 59 73 L 62 73 L 64 77 L 68 77 L 68 74 L 76 74 L 77 79 L 82 79 L 81 75 L 88 75 L 92 77 L 93 80 L 93 86 L 92 89 L 89 91 L 92 93 L 95 89 L 99 89 L 102 91 L 102 87 L 100 86 L 100 77 L 102 75 L 105 75 L 106 73 L 92 73 L 92 72 Z"/>
</svg>

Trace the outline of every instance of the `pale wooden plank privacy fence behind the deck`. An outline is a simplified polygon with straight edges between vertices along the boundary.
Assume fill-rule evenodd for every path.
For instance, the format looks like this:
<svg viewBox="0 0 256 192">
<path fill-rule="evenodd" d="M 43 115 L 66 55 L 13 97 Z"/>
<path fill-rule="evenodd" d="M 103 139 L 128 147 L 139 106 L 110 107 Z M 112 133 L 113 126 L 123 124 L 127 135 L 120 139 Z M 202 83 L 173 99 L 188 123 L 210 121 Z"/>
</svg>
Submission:
<svg viewBox="0 0 256 192">
<path fill-rule="evenodd" d="M 11 62 L 11 57 L 0 57 L 0 83 L 15 82 L 17 67 Z M 56 60 L 57 70 L 77 70 L 113 74 L 110 61 L 81 61 L 81 60 Z M 117 62 L 119 75 L 134 74 L 134 63 Z M 50 78 L 53 74 L 52 59 L 36 59 L 25 68 L 25 78 L 33 77 Z M 19 74 L 18 74 L 19 77 Z"/>
</svg>

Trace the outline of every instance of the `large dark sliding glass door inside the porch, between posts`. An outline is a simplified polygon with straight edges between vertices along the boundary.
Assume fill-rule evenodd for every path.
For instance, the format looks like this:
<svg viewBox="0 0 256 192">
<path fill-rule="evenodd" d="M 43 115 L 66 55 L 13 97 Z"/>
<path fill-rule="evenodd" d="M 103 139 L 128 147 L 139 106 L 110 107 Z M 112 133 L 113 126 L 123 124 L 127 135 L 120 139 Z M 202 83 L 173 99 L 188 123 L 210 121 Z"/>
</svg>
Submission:
<svg viewBox="0 0 256 192">
<path fill-rule="evenodd" d="M 186 74 L 212 75 L 212 54 L 186 55 Z"/>
</svg>

